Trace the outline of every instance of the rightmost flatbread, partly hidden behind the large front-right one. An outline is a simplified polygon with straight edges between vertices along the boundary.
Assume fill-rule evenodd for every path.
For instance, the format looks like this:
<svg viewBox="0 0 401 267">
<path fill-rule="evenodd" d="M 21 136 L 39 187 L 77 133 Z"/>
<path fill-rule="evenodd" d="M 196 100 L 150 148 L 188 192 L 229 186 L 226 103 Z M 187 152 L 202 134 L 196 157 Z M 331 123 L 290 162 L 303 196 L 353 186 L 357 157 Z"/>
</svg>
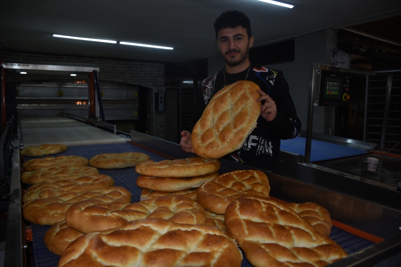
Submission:
<svg viewBox="0 0 401 267">
<path fill-rule="evenodd" d="M 286 205 L 312 224 L 319 233 L 330 235 L 332 223 L 327 209 L 313 202 L 286 203 Z"/>
</svg>

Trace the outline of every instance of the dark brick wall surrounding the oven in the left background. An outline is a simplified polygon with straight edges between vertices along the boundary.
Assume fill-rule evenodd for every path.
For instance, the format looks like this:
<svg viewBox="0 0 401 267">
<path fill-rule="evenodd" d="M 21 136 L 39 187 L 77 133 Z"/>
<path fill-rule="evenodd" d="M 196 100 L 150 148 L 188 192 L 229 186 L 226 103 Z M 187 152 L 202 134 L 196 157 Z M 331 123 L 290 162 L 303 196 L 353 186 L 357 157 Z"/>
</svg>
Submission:
<svg viewBox="0 0 401 267">
<path fill-rule="evenodd" d="M 140 85 L 151 89 L 149 94 L 149 135 L 165 138 L 165 112 L 154 112 L 154 93 L 164 92 L 164 63 L 121 59 L 86 58 L 74 56 L 30 54 L 0 51 L 0 62 L 74 66 L 90 64 L 100 68 L 99 79 Z M 32 77 L 32 76 L 31 76 Z M 46 76 L 41 76 L 45 79 Z M 65 75 L 48 76 L 48 79 L 65 78 Z M 6 75 L 6 82 L 29 80 L 29 76 Z"/>
</svg>

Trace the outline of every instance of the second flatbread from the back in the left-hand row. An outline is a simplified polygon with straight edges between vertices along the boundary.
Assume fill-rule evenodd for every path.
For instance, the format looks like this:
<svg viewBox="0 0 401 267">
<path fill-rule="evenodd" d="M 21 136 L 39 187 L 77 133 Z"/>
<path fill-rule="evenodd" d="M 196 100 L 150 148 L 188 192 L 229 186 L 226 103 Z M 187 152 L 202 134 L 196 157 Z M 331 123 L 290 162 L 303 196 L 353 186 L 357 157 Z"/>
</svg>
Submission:
<svg viewBox="0 0 401 267">
<path fill-rule="evenodd" d="M 22 168 L 25 171 L 34 171 L 44 167 L 60 167 L 60 166 L 87 166 L 89 160 L 80 156 L 58 156 L 58 157 L 46 157 L 46 158 L 34 158 L 30 159 L 24 164 Z"/>
</svg>

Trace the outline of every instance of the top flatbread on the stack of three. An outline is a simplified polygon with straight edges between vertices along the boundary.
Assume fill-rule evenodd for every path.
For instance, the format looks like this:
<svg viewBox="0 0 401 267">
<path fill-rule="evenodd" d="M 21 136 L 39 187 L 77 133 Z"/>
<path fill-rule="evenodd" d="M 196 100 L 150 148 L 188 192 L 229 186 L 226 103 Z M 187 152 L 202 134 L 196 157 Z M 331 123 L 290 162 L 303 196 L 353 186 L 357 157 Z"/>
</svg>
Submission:
<svg viewBox="0 0 401 267">
<path fill-rule="evenodd" d="M 220 161 L 218 159 L 204 159 L 201 157 L 176 160 L 166 159 L 159 162 L 148 160 L 137 164 L 135 167 L 135 171 L 142 175 L 176 178 L 212 174 L 219 169 Z"/>
</svg>

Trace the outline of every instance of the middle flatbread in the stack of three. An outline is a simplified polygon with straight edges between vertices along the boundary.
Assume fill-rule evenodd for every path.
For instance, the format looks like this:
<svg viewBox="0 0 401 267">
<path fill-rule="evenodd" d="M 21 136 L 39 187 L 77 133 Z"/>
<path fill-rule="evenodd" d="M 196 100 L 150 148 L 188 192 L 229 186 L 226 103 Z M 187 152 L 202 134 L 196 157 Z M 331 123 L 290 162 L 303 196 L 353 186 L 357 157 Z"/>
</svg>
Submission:
<svg viewBox="0 0 401 267">
<path fill-rule="evenodd" d="M 212 181 L 217 176 L 218 172 L 186 178 L 173 178 L 173 177 L 151 177 L 140 175 L 136 179 L 136 185 L 142 188 L 147 188 L 155 191 L 173 192 L 189 188 L 199 187 L 201 184 Z"/>
</svg>

